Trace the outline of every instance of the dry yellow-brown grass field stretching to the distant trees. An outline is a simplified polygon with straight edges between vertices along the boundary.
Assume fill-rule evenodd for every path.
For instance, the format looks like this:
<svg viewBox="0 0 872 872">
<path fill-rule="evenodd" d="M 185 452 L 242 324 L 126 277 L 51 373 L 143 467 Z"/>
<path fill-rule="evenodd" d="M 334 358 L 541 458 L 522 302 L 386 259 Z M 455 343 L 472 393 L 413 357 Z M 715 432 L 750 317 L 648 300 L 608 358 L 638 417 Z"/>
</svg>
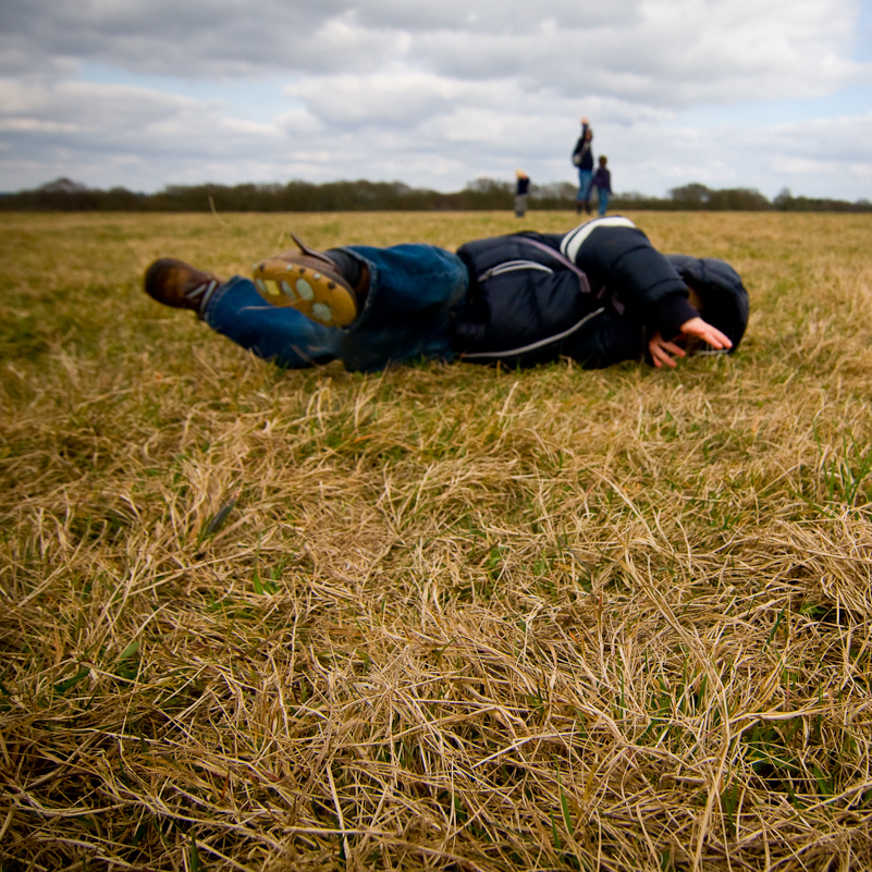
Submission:
<svg viewBox="0 0 872 872">
<path fill-rule="evenodd" d="M 2 872 L 872 867 L 872 217 L 635 218 L 737 355 L 281 372 L 147 263 L 516 220 L 0 216 Z"/>
</svg>

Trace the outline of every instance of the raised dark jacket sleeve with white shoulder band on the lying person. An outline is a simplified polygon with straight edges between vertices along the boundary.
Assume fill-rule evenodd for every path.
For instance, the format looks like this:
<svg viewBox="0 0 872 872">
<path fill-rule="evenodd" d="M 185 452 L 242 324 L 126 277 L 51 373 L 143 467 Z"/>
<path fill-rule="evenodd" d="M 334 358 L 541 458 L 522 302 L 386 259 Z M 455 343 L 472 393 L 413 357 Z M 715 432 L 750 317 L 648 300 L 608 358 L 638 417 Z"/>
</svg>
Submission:
<svg viewBox="0 0 872 872">
<path fill-rule="evenodd" d="M 627 218 L 588 221 L 569 231 L 560 248 L 587 273 L 593 293 L 616 299 L 628 317 L 667 339 L 698 315 L 678 271 Z"/>
</svg>

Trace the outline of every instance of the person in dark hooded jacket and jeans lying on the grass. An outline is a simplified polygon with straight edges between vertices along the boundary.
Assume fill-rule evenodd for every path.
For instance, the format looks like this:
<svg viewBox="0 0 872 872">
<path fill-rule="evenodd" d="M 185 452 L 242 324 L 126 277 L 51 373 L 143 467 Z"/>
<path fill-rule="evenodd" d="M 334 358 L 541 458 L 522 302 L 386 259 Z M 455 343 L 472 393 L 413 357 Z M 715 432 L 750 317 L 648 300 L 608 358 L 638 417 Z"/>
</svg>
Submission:
<svg viewBox="0 0 872 872">
<path fill-rule="evenodd" d="M 619 216 L 566 234 L 532 231 L 451 253 L 409 243 L 299 251 L 222 281 L 156 260 L 145 290 L 281 367 L 341 359 L 378 371 L 440 359 L 532 366 L 569 357 L 587 368 L 735 351 L 748 293 L 722 260 L 662 255 Z"/>
</svg>

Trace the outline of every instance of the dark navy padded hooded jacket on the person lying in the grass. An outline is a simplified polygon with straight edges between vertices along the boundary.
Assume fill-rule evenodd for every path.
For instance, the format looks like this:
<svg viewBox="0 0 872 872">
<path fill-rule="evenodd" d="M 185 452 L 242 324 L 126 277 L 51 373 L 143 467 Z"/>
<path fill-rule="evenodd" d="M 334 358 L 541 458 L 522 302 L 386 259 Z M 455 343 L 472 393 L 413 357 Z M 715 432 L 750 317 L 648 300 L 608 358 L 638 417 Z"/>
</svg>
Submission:
<svg viewBox="0 0 872 872">
<path fill-rule="evenodd" d="M 734 347 L 747 322 L 747 292 L 729 265 L 661 255 L 621 217 L 597 219 L 565 235 L 479 240 L 457 255 L 470 279 L 452 344 L 470 363 L 530 366 L 565 356 L 599 368 L 638 359 L 651 331 L 675 336 L 698 315 L 687 303 L 684 277 L 691 273 L 704 273 L 719 294 L 745 302 L 744 318 L 736 318 L 728 333 Z"/>
</svg>

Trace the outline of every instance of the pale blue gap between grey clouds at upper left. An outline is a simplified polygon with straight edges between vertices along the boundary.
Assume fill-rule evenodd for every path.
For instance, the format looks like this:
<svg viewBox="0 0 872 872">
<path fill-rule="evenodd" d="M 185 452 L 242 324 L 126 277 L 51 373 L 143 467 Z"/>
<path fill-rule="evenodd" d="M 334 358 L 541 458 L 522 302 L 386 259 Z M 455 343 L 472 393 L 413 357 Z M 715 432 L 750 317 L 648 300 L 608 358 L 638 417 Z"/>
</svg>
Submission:
<svg viewBox="0 0 872 872">
<path fill-rule="evenodd" d="M 137 75 L 108 64 L 83 63 L 78 77 L 83 82 L 101 85 L 134 85 L 202 102 L 219 100 L 235 118 L 260 123 L 268 123 L 282 112 L 303 108 L 300 100 L 282 94 L 283 88 L 293 84 L 291 76 L 232 81 L 187 79 Z"/>
</svg>

